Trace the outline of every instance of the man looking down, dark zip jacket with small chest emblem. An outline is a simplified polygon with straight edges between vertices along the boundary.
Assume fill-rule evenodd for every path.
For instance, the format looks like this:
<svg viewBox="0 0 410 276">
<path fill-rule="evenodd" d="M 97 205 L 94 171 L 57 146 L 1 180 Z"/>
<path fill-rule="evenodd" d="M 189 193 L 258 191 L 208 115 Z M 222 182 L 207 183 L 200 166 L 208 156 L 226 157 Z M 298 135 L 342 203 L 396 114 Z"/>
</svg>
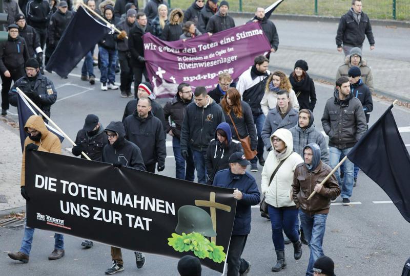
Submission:
<svg viewBox="0 0 410 276">
<path fill-rule="evenodd" d="M 191 147 L 197 171 L 198 183 L 206 183 L 207 168 L 205 158 L 209 142 L 215 135 L 216 127 L 225 122 L 222 108 L 208 96 L 204 86 L 194 92 L 194 103 L 187 106 L 181 129 L 181 155 L 187 160 Z"/>
</svg>

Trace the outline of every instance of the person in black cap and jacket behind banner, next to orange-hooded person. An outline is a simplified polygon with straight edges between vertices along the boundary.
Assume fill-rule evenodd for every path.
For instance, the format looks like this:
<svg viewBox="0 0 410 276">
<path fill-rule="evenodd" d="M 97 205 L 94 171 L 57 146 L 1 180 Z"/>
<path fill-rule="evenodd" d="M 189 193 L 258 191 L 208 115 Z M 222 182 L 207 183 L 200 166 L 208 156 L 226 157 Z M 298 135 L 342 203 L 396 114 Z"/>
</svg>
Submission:
<svg viewBox="0 0 410 276">
<path fill-rule="evenodd" d="M 101 161 L 103 148 L 107 144 L 108 137 L 98 116 L 95 114 L 88 114 L 83 129 L 80 129 L 77 132 L 77 137 L 75 139 L 76 146 L 71 149 L 71 153 L 75 156 L 81 155 L 81 158 L 85 159 L 86 157 L 81 154 L 81 151 L 84 151 L 91 160 Z M 81 245 L 86 248 L 91 248 L 93 244 L 94 243 L 89 240 L 85 240 L 81 243 Z"/>
</svg>

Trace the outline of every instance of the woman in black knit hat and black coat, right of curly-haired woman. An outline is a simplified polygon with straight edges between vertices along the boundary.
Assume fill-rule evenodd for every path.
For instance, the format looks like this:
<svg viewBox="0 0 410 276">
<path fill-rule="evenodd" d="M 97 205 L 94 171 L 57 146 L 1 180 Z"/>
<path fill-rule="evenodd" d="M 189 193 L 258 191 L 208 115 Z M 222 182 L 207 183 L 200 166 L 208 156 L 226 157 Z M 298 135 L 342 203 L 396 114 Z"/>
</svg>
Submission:
<svg viewBox="0 0 410 276">
<path fill-rule="evenodd" d="M 308 63 L 299 59 L 295 63 L 294 71 L 289 75 L 289 80 L 298 99 L 299 110 L 306 108 L 313 111 L 316 104 L 316 90 L 315 83 L 306 73 L 308 69 Z"/>
</svg>

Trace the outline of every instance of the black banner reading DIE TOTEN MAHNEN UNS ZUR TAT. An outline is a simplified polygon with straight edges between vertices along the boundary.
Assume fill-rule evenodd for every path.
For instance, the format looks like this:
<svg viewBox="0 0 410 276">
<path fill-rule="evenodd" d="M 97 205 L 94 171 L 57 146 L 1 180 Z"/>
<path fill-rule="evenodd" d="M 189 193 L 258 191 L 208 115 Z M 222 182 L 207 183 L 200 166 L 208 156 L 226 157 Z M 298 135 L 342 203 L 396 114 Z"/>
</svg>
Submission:
<svg viewBox="0 0 410 276">
<path fill-rule="evenodd" d="M 27 225 L 223 272 L 231 189 L 42 151 L 26 156 Z M 214 231 L 214 227 L 216 231 Z"/>
</svg>

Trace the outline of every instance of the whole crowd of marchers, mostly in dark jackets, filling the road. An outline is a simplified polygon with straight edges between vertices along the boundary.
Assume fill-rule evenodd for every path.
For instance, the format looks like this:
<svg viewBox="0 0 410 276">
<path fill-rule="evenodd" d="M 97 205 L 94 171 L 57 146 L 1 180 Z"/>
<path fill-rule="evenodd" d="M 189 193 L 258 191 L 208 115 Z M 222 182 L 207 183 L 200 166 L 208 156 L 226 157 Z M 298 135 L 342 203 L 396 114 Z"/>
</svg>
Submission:
<svg viewBox="0 0 410 276">
<path fill-rule="evenodd" d="M 367 35 L 373 50 L 374 38 L 370 21 L 361 11 L 361 1 L 352 1 L 352 8 L 342 16 L 337 31 L 337 49 L 346 56 L 335 70 L 334 93 L 327 100 L 321 118 L 329 143 L 314 125 L 315 84 L 304 60 L 297 60 L 293 72 L 287 76 L 281 71 L 268 70 L 269 55 L 257 56 L 237 81 L 230 74 L 221 73 L 211 91 L 180 83 L 175 97 L 165 106 L 155 101 L 151 84 L 142 82 L 143 75 L 147 79 L 142 35 L 150 32 L 173 41 L 227 30 L 235 26 L 228 15 L 227 1 L 218 5 L 218 0 L 206 3 L 197 0 L 185 12 L 181 9 L 169 12 L 165 0 L 150 0 L 144 12 L 138 11 L 137 1 L 117 0 L 114 4 L 105 0 L 98 9 L 96 4 L 95 0 L 86 2 L 121 30 L 119 34 L 107 34 L 98 42 L 95 59 L 101 72 L 101 89 L 118 89 L 115 85 L 118 57 L 121 97 L 135 99 L 126 105 L 122 122 L 111 122 L 104 127 L 98 116 L 89 114 L 77 133 L 73 155 L 88 156 L 114 167 L 160 172 L 166 166 L 168 134 L 172 137 L 176 178 L 194 181 L 196 171 L 198 183 L 235 189 L 233 196 L 238 204 L 228 251 L 229 276 L 246 275 L 250 271 L 250 262 L 242 259 L 241 254 L 251 231 L 251 205 L 258 204 L 261 195 L 261 216 L 272 224 L 276 252 L 272 271 L 286 267 L 285 243 L 293 244 L 294 259 L 298 260 L 303 242 L 310 248 L 306 275 L 334 275 L 333 261 L 323 256 L 322 250 L 326 218 L 331 201 L 339 195 L 343 205 L 350 204 L 358 168 L 346 159 L 340 171 L 324 183 L 322 180 L 366 132 L 373 110 L 373 75 L 363 58 L 362 43 Z M 75 10 L 78 3 L 52 1 L 49 5 L 45 0 L 30 0 L 23 5 L 20 8 L 24 14 L 13 16 L 15 24 L 8 26 L 9 39 L 0 47 L 2 115 L 7 114 L 9 103 L 17 105 L 18 87 L 50 116 L 57 91 L 43 75 L 43 49 L 47 43 L 47 63 L 73 17 L 74 11 L 70 9 Z M 271 43 L 270 54 L 275 53 L 278 34 L 273 22 L 265 18 L 264 9 L 257 8 L 251 21 L 260 21 Z M 91 49 L 81 68 L 81 80 L 91 85 L 95 83 L 93 63 L 94 49 Z M 14 85 L 10 89 L 12 80 Z M 58 138 L 47 130 L 44 121 L 47 120 L 32 116 L 25 125 L 28 137 L 23 152 L 21 193 L 26 200 L 30 199 L 24 179 L 26 151 L 61 152 Z M 262 167 L 260 192 L 254 176 L 246 170 L 250 165 L 251 172 L 258 172 L 258 163 Z M 316 195 L 309 200 L 313 192 Z M 33 233 L 34 229 L 25 227 L 22 246 L 18 252 L 10 253 L 10 258 L 29 261 Z M 93 243 L 86 240 L 82 245 L 90 248 Z M 56 234 L 49 259 L 59 259 L 64 254 L 64 237 Z M 120 248 L 111 247 L 111 256 L 113 264 L 106 273 L 124 270 Z M 135 252 L 135 257 L 137 267 L 144 266 L 144 254 Z M 181 271 L 186 271 L 182 264 L 194 266 L 195 262 L 181 260 L 181 270 L 178 265 L 181 275 L 185 273 Z"/>
</svg>

